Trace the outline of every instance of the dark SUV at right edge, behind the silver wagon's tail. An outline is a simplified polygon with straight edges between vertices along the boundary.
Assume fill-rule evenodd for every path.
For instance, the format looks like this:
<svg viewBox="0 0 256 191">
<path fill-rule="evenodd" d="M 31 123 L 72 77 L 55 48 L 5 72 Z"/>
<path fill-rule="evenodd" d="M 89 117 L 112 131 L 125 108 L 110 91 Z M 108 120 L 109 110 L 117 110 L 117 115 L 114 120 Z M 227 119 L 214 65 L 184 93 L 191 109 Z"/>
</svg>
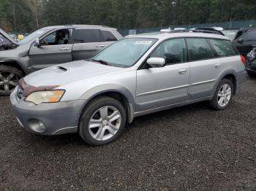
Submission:
<svg viewBox="0 0 256 191">
<path fill-rule="evenodd" d="M 256 28 L 241 28 L 233 40 L 241 55 L 246 56 L 256 46 Z"/>
</svg>

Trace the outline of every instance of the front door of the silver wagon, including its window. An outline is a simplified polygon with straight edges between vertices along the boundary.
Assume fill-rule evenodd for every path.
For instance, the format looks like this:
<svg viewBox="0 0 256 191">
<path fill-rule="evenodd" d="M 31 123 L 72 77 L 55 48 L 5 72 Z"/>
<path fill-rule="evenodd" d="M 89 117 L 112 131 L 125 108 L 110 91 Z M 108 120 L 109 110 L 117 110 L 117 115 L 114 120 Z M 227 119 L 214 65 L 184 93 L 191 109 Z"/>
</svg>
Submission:
<svg viewBox="0 0 256 191">
<path fill-rule="evenodd" d="M 137 112 L 188 101 L 189 63 L 185 40 L 162 42 L 150 57 L 165 58 L 166 65 L 137 71 Z"/>
</svg>

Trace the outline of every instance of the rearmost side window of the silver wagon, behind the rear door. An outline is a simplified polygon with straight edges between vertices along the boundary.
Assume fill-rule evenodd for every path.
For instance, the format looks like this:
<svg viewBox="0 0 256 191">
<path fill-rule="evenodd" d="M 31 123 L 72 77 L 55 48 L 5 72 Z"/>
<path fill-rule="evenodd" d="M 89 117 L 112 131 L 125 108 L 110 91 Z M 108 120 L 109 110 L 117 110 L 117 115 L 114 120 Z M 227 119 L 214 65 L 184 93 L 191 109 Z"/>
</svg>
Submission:
<svg viewBox="0 0 256 191">
<path fill-rule="evenodd" d="M 236 55 L 236 50 L 233 48 L 231 42 L 227 40 L 211 39 L 210 40 L 217 55 Z"/>
</svg>

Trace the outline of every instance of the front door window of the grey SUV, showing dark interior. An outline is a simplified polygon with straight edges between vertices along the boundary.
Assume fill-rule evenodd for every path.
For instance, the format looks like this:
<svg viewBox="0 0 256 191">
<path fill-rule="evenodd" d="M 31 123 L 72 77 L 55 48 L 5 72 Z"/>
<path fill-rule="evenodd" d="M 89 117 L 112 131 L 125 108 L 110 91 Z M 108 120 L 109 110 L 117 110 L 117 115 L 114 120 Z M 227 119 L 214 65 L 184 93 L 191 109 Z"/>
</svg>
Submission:
<svg viewBox="0 0 256 191">
<path fill-rule="evenodd" d="M 44 46 L 69 44 L 69 30 L 62 29 L 54 31 L 51 34 L 48 34 L 48 36 L 45 36 L 45 38 L 41 40 L 41 44 Z"/>
</svg>

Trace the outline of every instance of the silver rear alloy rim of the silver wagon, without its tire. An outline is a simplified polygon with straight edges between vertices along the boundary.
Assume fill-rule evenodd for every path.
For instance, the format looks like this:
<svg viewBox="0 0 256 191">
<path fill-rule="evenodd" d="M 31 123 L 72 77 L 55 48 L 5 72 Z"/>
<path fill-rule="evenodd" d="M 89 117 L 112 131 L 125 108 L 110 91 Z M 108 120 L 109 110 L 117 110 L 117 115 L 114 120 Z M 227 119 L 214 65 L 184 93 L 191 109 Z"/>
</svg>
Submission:
<svg viewBox="0 0 256 191">
<path fill-rule="evenodd" d="M 222 87 L 219 88 L 218 92 L 218 104 L 219 106 L 225 107 L 230 102 L 232 94 L 231 86 L 227 83 L 223 84 Z"/>
</svg>

